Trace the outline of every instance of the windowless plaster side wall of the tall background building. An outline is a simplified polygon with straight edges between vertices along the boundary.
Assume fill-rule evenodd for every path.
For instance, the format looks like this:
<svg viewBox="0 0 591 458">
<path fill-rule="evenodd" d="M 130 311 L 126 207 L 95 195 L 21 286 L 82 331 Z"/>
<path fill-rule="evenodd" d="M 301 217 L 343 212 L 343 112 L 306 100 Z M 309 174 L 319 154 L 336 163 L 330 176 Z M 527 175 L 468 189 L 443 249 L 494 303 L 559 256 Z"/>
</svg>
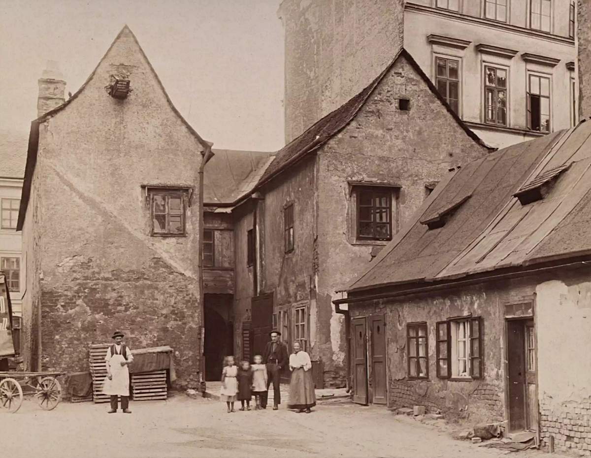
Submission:
<svg viewBox="0 0 591 458">
<path fill-rule="evenodd" d="M 284 0 L 285 140 L 361 92 L 402 46 L 402 0 Z"/>
</svg>

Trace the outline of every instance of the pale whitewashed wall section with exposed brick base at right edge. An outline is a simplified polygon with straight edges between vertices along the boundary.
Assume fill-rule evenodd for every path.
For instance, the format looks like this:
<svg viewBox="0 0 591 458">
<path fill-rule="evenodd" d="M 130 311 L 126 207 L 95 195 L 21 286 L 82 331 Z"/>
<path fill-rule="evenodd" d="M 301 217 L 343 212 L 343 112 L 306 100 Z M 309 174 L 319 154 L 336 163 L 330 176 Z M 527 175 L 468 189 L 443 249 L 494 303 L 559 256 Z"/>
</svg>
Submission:
<svg viewBox="0 0 591 458">
<path fill-rule="evenodd" d="M 591 456 L 591 281 L 562 277 L 536 288 L 541 436 Z"/>
</svg>

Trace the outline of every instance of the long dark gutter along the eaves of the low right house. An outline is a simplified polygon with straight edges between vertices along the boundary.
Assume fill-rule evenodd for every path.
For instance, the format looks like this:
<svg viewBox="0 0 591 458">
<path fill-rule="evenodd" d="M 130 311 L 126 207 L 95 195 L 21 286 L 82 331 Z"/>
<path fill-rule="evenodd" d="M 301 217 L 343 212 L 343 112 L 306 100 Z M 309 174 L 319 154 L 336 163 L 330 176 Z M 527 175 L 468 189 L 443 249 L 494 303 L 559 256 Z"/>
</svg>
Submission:
<svg viewBox="0 0 591 458">
<path fill-rule="evenodd" d="M 438 291 L 444 290 L 450 287 L 459 287 L 459 286 L 469 286 L 475 285 L 478 283 L 489 282 L 489 281 L 496 281 L 496 280 L 505 280 L 507 278 L 516 278 L 516 277 L 528 277 L 530 275 L 539 274 L 540 272 L 547 272 L 558 268 L 566 268 L 566 267 L 591 267 L 591 260 L 590 261 L 577 261 L 577 262 L 570 262 L 567 264 L 558 264 L 548 267 L 539 267 L 536 269 L 527 269 L 525 271 L 518 271 L 518 272 L 508 272 L 506 274 L 499 274 L 499 275 L 490 275 L 484 278 L 471 278 L 470 280 L 460 280 L 460 281 L 446 281 L 436 285 L 429 285 L 420 288 L 409 288 L 408 290 L 402 291 L 391 291 L 389 293 L 379 293 L 379 294 L 368 294 L 364 296 L 358 297 L 348 297 L 342 298 L 332 301 L 335 304 L 335 307 L 340 306 L 341 304 L 354 304 L 359 302 L 365 301 L 373 301 L 379 299 L 389 299 L 394 297 L 401 297 L 410 294 L 420 294 L 420 293 L 428 293 L 430 291 Z M 376 287 L 377 288 L 377 287 Z M 335 308 L 336 311 L 336 308 Z M 338 313 L 338 312 L 337 312 Z"/>
</svg>

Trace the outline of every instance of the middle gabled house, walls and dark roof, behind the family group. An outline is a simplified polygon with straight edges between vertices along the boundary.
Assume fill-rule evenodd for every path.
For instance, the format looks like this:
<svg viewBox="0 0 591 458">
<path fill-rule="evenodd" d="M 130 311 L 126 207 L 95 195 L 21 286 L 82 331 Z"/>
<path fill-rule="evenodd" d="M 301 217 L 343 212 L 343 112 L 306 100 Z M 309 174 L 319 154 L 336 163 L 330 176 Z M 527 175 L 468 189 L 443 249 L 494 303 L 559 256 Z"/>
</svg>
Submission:
<svg viewBox="0 0 591 458">
<path fill-rule="evenodd" d="M 231 210 L 236 352 L 262 352 L 277 328 L 310 352 L 317 386 L 345 385 L 335 291 L 444 173 L 488 152 L 402 50 L 358 95 L 261 160 L 260 178 Z"/>
</svg>

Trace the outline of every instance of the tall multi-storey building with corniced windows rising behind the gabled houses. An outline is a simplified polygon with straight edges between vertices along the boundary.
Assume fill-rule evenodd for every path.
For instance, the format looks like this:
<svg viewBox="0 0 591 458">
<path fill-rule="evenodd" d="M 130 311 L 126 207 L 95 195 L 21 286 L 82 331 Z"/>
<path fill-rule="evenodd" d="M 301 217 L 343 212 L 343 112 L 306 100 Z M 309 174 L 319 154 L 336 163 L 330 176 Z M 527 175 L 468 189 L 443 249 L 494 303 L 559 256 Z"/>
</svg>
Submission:
<svg viewBox="0 0 591 458">
<path fill-rule="evenodd" d="M 368 85 L 401 46 L 489 145 L 569 128 L 578 119 L 575 3 L 284 0 L 286 139 Z"/>
</svg>

